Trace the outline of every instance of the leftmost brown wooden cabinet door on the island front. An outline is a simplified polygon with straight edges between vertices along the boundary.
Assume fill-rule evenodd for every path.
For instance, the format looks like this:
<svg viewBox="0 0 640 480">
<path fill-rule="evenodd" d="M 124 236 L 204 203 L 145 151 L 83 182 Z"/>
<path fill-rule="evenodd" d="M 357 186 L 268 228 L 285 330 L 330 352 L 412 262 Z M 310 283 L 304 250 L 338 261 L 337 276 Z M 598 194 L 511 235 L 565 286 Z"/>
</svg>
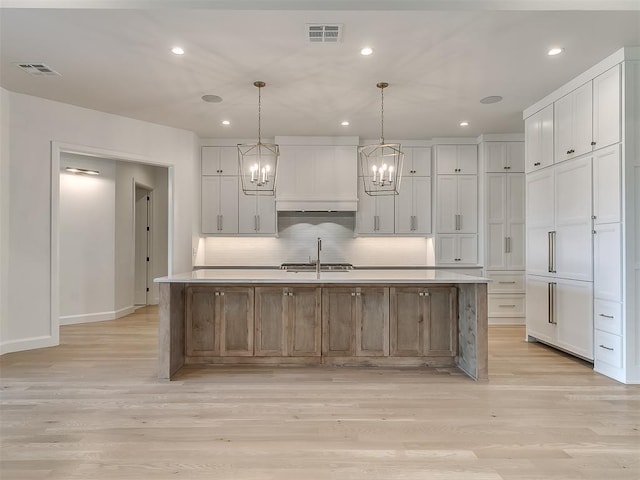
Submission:
<svg viewBox="0 0 640 480">
<path fill-rule="evenodd" d="M 185 344 L 188 357 L 220 354 L 220 321 L 211 287 L 187 287 L 185 296 Z"/>
</svg>

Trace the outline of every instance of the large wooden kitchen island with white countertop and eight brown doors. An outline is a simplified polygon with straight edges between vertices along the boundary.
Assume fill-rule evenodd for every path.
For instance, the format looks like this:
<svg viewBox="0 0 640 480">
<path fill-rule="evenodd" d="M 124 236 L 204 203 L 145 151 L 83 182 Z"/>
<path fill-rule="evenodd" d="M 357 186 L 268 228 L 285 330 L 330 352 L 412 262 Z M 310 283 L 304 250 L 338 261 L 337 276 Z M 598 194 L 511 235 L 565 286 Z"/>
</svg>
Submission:
<svg viewBox="0 0 640 480">
<path fill-rule="evenodd" d="M 485 278 L 203 269 L 156 282 L 162 379 L 194 364 L 457 366 L 487 379 Z"/>
</svg>

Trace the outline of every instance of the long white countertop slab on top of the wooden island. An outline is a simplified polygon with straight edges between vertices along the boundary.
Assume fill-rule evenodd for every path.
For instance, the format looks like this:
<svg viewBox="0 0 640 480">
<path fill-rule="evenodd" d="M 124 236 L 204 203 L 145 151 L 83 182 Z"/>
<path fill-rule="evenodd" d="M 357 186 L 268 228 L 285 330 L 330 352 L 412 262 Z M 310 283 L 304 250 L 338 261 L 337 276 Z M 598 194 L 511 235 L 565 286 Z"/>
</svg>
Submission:
<svg viewBox="0 0 640 480">
<path fill-rule="evenodd" d="M 488 283 L 451 270 L 349 270 L 345 272 L 287 272 L 280 269 L 202 269 L 156 278 L 158 283 Z"/>
</svg>

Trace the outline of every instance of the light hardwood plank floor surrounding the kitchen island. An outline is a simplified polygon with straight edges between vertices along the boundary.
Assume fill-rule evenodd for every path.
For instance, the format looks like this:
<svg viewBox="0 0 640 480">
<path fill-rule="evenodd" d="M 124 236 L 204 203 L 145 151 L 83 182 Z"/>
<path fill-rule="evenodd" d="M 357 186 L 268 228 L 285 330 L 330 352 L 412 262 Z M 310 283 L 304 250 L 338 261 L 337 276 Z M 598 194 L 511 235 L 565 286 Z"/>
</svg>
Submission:
<svg viewBox="0 0 640 480">
<path fill-rule="evenodd" d="M 640 479 L 640 387 L 492 327 L 455 369 L 188 368 L 155 378 L 157 309 L 0 358 L 2 480 Z"/>
</svg>

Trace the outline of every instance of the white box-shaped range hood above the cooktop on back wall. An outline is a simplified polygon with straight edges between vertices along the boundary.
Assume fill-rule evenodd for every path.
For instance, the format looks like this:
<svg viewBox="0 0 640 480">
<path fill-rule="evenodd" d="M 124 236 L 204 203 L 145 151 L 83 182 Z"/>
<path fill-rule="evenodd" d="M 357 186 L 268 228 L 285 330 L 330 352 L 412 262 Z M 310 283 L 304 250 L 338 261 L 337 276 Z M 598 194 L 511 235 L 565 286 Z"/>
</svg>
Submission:
<svg viewBox="0 0 640 480">
<path fill-rule="evenodd" d="M 354 212 L 358 137 L 276 137 L 280 146 L 276 209 Z"/>
</svg>

